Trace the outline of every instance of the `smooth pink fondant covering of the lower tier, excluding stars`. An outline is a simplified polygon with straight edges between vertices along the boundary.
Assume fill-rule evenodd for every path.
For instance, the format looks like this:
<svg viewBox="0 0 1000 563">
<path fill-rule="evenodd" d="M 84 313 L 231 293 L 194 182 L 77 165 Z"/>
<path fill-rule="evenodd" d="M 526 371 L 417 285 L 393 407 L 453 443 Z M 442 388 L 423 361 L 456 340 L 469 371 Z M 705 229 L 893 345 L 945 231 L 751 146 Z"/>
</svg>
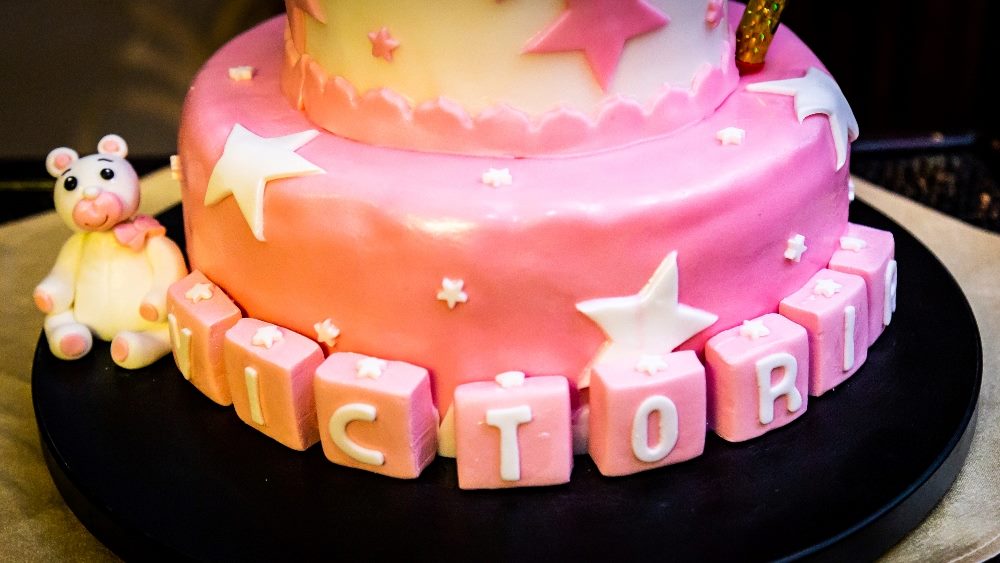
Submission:
<svg viewBox="0 0 1000 563">
<path fill-rule="evenodd" d="M 258 241 L 233 198 L 203 201 L 235 124 L 267 137 L 316 127 L 279 92 L 283 26 L 272 20 L 231 42 L 188 96 L 179 152 L 192 265 L 249 315 L 308 335 L 330 318 L 336 350 L 428 368 L 441 412 L 457 385 L 507 370 L 578 382 L 605 338 L 575 305 L 635 293 L 673 250 L 680 301 L 719 316 L 682 346 L 700 350 L 775 311 L 826 266 L 844 232 L 847 167 L 833 168 L 827 118 L 800 124 L 793 98 L 744 89 L 820 65 L 780 29 L 766 68 L 718 111 L 623 149 L 506 159 L 322 134 L 297 154 L 326 173 L 269 182 L 267 241 Z M 229 80 L 236 65 L 257 69 L 251 83 Z M 574 123 L 553 131 L 578 135 Z M 746 141 L 721 146 L 726 127 L 746 130 Z M 494 167 L 508 168 L 512 185 L 484 185 Z M 794 234 L 809 247 L 801 262 L 783 257 Z M 466 303 L 436 299 L 444 277 L 464 280 Z"/>
</svg>

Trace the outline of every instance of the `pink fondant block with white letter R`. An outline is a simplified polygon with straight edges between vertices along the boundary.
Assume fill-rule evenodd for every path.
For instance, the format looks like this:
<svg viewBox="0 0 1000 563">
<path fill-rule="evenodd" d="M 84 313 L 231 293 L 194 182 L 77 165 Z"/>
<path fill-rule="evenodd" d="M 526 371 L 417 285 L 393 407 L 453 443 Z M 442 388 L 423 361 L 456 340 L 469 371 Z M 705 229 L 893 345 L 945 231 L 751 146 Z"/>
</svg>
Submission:
<svg viewBox="0 0 1000 563">
<path fill-rule="evenodd" d="M 755 438 L 806 411 L 809 337 L 771 313 L 705 344 L 708 425 L 730 442 Z"/>
</svg>

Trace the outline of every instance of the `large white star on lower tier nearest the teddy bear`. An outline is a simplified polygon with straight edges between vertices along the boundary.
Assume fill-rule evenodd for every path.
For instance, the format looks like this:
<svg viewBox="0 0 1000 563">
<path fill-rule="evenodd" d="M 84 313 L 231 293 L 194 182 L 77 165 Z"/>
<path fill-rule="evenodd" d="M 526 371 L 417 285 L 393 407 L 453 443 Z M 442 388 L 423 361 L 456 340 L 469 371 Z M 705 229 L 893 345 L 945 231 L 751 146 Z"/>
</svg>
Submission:
<svg viewBox="0 0 1000 563">
<path fill-rule="evenodd" d="M 239 123 L 226 139 L 205 189 L 205 205 L 232 195 L 257 240 L 264 240 L 264 188 L 271 180 L 321 174 L 322 168 L 295 154 L 319 135 L 308 130 L 282 137 L 261 137 Z"/>
</svg>

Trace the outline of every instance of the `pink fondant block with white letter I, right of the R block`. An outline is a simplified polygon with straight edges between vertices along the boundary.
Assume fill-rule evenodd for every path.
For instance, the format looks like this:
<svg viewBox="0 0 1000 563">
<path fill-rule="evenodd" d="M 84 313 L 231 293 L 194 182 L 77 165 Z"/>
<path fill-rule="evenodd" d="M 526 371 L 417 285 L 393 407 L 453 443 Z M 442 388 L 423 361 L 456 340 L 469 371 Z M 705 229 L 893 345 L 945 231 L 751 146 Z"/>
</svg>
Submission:
<svg viewBox="0 0 1000 563">
<path fill-rule="evenodd" d="M 868 357 L 868 296 L 860 277 L 820 270 L 802 289 L 782 299 L 778 312 L 809 334 L 813 397 L 854 375 Z"/>
</svg>

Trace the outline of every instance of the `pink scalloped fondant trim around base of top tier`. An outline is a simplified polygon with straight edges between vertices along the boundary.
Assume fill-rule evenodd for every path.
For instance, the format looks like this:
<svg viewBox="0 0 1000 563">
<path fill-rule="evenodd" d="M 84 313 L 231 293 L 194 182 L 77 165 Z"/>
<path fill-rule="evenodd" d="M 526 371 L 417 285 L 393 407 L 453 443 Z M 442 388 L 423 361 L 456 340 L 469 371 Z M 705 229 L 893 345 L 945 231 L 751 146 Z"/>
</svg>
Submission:
<svg viewBox="0 0 1000 563">
<path fill-rule="evenodd" d="M 612 96 L 593 116 L 559 107 L 532 117 L 507 105 L 472 116 L 444 97 L 414 106 L 388 88 L 358 93 L 348 80 L 328 75 L 301 53 L 286 29 L 281 88 L 320 127 L 371 145 L 471 155 L 579 154 L 664 135 L 700 121 L 736 89 L 739 73 L 733 53 L 733 44 L 727 42 L 720 65 L 703 65 L 690 89 L 665 86 L 645 106 Z"/>
</svg>

